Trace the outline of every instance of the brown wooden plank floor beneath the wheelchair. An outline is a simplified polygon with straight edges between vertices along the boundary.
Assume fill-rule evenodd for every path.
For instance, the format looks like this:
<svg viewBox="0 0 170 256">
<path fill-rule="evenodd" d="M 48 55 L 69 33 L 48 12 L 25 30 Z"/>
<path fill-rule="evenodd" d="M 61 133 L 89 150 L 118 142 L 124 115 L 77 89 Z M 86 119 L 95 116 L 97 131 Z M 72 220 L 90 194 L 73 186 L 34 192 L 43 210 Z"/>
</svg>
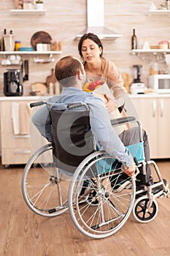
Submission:
<svg viewBox="0 0 170 256">
<path fill-rule="evenodd" d="M 170 160 L 159 161 L 170 181 Z M 34 214 L 23 201 L 23 167 L 0 170 L 0 256 L 125 256 L 170 255 L 170 198 L 157 200 L 158 216 L 147 224 L 128 219 L 114 236 L 93 240 L 82 235 L 69 212 L 46 218 Z"/>
</svg>

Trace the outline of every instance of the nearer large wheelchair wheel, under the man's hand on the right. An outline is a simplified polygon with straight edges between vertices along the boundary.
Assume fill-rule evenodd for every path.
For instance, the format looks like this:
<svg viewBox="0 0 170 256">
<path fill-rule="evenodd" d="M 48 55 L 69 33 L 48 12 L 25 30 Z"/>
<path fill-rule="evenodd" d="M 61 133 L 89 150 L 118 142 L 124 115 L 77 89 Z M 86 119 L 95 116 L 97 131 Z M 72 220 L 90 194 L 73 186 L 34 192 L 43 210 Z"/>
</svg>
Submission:
<svg viewBox="0 0 170 256">
<path fill-rule="evenodd" d="M 135 192 L 135 178 L 122 172 L 120 162 L 101 151 L 90 154 L 69 187 L 74 225 L 90 238 L 112 236 L 131 214 Z"/>
</svg>

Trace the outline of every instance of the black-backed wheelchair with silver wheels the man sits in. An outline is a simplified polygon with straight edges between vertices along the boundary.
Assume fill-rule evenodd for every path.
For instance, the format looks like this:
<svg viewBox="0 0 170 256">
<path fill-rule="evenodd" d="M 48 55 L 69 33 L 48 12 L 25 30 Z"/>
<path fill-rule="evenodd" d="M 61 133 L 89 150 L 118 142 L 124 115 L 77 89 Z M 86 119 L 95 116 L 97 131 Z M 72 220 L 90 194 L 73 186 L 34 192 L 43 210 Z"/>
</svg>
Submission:
<svg viewBox="0 0 170 256">
<path fill-rule="evenodd" d="M 46 102 L 31 103 L 31 107 Z M 27 206 L 43 217 L 56 217 L 69 210 L 74 225 L 90 238 L 115 234 L 129 215 L 139 222 L 150 222 L 158 213 L 157 197 L 169 197 L 169 188 L 155 162 L 158 183 L 136 191 L 139 167 L 145 168 L 142 135 L 139 143 L 127 146 L 136 164 L 134 176 L 126 176 L 121 163 L 107 152 L 97 150 L 90 129 L 89 108 L 85 103 L 58 110 L 48 105 L 52 143 L 39 148 L 23 171 L 22 192 Z M 112 127 L 140 121 L 130 116 L 112 120 Z M 153 195 L 152 189 L 163 189 Z M 141 196 L 142 195 L 142 196 Z"/>
</svg>

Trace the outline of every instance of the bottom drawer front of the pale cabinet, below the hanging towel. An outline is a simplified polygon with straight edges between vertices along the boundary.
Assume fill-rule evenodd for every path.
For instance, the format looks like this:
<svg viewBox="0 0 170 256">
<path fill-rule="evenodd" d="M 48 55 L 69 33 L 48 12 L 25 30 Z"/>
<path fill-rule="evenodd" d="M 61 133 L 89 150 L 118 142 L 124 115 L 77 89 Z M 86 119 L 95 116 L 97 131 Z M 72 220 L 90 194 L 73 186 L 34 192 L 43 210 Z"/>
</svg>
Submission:
<svg viewBox="0 0 170 256">
<path fill-rule="evenodd" d="M 31 149 L 25 148 L 4 148 L 2 149 L 1 164 L 2 165 L 22 165 L 28 162 L 31 157 Z"/>
</svg>

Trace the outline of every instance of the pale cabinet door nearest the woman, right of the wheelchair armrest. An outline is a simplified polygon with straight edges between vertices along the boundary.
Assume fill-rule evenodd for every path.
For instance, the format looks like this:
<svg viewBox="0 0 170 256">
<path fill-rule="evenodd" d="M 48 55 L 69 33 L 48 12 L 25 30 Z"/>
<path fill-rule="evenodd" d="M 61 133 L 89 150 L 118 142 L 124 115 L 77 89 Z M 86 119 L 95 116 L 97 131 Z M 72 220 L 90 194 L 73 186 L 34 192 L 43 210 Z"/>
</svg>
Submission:
<svg viewBox="0 0 170 256">
<path fill-rule="evenodd" d="M 146 130 L 150 143 L 151 158 L 159 158 L 158 155 L 158 99 L 136 98 L 131 99 L 139 114 L 142 128 Z"/>
</svg>

